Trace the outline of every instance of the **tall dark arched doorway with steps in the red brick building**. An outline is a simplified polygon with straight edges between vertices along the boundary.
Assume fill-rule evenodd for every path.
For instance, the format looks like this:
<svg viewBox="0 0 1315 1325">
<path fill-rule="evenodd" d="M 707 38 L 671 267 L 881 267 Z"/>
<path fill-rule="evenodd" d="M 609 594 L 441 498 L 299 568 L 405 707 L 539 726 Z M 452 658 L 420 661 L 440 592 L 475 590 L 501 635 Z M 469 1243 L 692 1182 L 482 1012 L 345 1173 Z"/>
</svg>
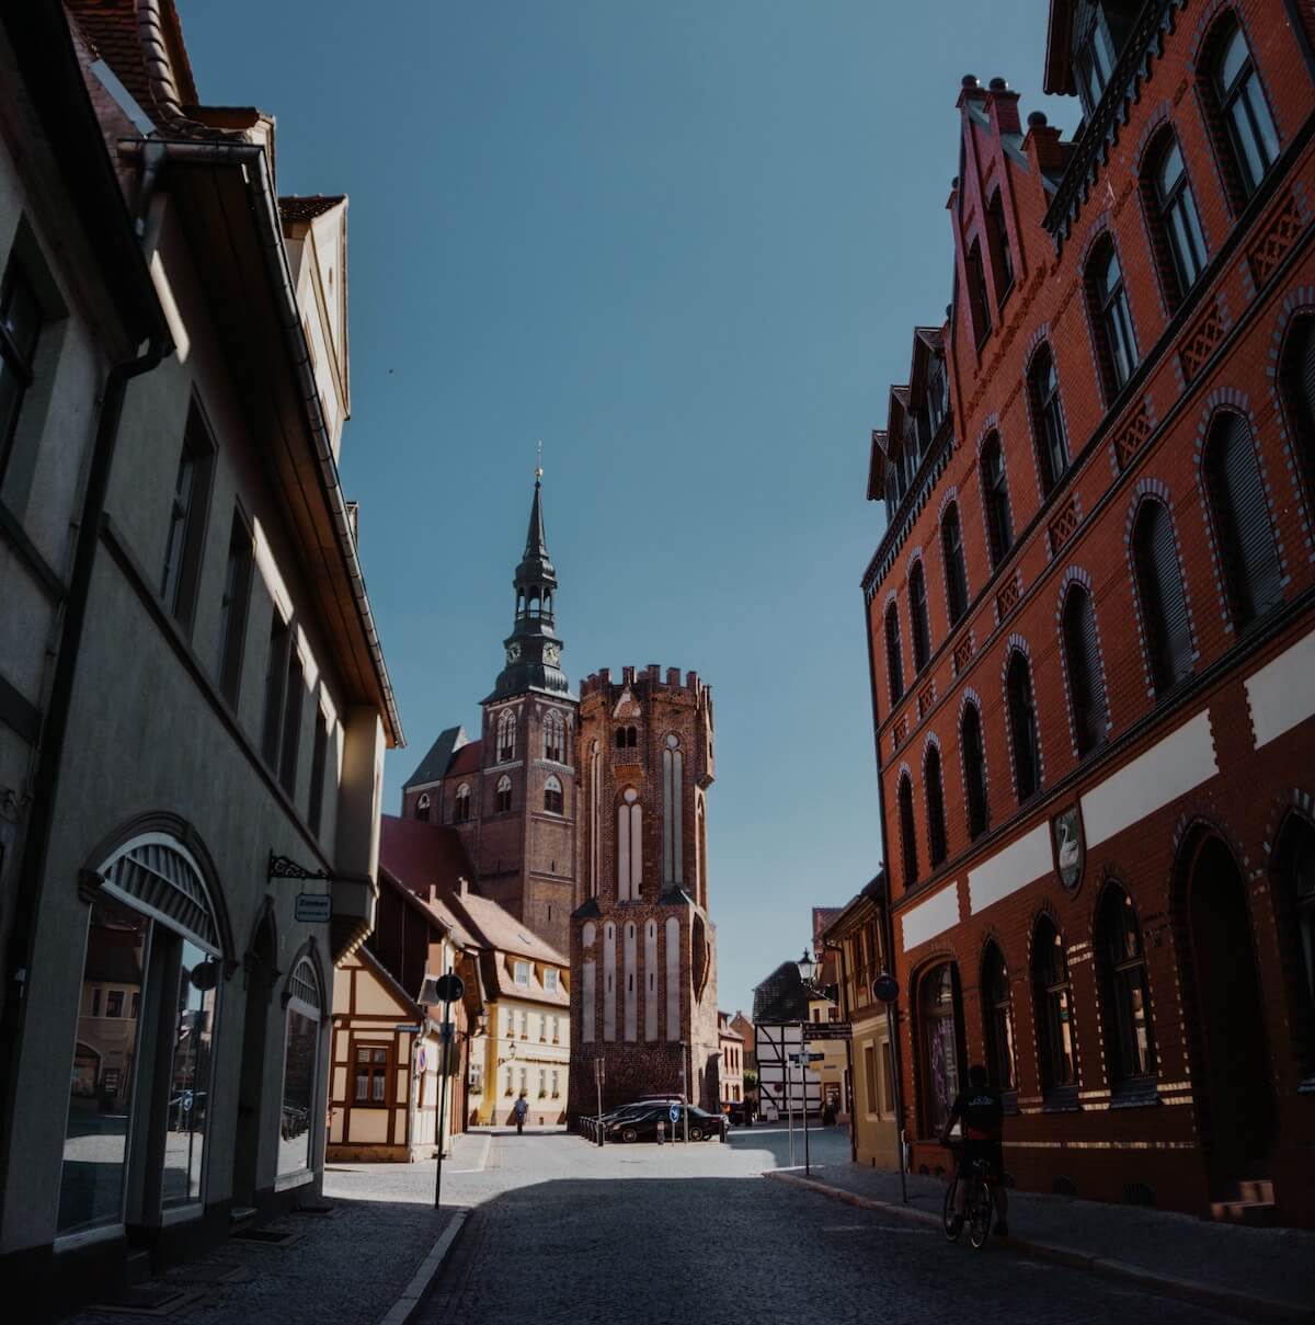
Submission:
<svg viewBox="0 0 1315 1325">
<path fill-rule="evenodd" d="M 1267 1177 L 1275 1117 L 1246 884 L 1213 833 L 1188 855 L 1187 931 L 1201 1136 L 1213 1194 L 1229 1196 L 1240 1181 Z"/>
</svg>

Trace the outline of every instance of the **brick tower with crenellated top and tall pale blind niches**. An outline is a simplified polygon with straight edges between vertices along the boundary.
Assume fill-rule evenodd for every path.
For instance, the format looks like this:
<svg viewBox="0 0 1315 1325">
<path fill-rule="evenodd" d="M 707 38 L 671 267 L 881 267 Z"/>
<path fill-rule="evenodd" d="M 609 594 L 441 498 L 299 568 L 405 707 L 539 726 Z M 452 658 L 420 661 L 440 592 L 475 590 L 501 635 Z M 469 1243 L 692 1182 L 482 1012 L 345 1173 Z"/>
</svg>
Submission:
<svg viewBox="0 0 1315 1325">
<path fill-rule="evenodd" d="M 580 882 L 571 917 L 572 1117 L 649 1092 L 718 1108 L 716 942 L 705 795 L 711 690 L 657 666 L 580 688 Z"/>
</svg>

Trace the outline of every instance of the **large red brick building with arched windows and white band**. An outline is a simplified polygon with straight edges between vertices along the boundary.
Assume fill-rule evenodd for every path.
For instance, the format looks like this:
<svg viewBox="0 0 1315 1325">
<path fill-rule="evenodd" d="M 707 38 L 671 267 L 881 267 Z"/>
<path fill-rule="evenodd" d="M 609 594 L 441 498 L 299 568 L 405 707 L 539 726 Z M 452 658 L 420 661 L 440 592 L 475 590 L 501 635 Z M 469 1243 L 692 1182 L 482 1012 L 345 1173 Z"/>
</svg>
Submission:
<svg viewBox="0 0 1315 1325">
<path fill-rule="evenodd" d="M 963 82 L 863 576 L 915 1169 L 983 1061 L 1020 1186 L 1315 1223 L 1312 30 L 1051 0 L 1073 142 Z"/>
</svg>

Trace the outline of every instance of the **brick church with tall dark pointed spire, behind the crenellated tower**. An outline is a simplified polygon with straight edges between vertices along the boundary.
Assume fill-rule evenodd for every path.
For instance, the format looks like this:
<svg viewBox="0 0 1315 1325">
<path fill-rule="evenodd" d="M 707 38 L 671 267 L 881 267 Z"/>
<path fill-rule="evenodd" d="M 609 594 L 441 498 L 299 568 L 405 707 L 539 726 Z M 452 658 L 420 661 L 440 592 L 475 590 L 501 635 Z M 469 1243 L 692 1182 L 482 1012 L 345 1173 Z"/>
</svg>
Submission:
<svg viewBox="0 0 1315 1325">
<path fill-rule="evenodd" d="M 478 741 L 449 729 L 403 791 L 403 814 L 450 824 L 475 884 L 564 953 L 576 896 L 576 698 L 554 621 L 558 574 L 543 527 L 542 473 L 516 567 L 506 665 L 482 701 Z"/>
</svg>

